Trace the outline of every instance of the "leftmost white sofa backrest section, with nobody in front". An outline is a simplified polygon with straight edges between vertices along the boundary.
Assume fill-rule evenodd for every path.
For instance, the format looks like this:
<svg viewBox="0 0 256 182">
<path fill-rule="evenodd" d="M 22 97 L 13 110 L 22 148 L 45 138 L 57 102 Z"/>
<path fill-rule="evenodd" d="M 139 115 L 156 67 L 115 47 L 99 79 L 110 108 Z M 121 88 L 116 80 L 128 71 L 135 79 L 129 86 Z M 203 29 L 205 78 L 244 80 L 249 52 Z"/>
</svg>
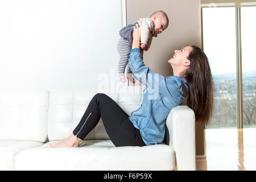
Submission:
<svg viewBox="0 0 256 182">
<path fill-rule="evenodd" d="M 49 92 L 0 90 L 0 140 L 47 140 Z"/>
</svg>

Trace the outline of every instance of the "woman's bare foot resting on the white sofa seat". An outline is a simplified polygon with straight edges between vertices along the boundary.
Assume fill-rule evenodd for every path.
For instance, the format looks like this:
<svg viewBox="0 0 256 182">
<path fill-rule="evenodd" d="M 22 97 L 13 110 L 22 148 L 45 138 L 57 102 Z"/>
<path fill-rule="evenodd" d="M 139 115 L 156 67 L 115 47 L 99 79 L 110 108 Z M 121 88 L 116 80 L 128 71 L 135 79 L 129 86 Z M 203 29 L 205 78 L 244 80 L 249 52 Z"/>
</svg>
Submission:
<svg viewBox="0 0 256 182">
<path fill-rule="evenodd" d="M 68 138 L 59 140 L 49 144 L 47 148 L 56 148 L 56 147 L 79 147 L 80 138 L 77 138 L 74 134 L 70 135 Z"/>
</svg>

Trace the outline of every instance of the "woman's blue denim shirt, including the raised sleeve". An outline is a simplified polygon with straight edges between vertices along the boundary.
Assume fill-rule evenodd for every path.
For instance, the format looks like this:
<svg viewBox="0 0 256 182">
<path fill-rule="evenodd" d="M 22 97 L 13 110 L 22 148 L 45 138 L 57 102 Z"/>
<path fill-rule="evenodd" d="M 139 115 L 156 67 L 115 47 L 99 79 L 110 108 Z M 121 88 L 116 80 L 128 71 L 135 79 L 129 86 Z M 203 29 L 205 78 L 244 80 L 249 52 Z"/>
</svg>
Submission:
<svg viewBox="0 0 256 182">
<path fill-rule="evenodd" d="M 128 55 L 134 76 L 147 86 L 143 91 L 142 105 L 131 113 L 129 119 L 140 130 L 146 145 L 161 143 L 168 114 L 183 102 L 189 92 L 187 80 L 179 76 L 164 77 L 150 71 L 143 64 L 138 48 L 132 49 Z"/>
</svg>

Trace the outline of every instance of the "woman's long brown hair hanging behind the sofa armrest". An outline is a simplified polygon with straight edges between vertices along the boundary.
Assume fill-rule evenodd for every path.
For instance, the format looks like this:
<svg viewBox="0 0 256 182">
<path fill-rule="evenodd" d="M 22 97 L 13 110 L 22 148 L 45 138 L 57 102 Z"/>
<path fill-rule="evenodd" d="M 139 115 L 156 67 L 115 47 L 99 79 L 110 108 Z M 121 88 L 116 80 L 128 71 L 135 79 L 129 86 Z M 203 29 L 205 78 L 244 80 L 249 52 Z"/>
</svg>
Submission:
<svg viewBox="0 0 256 182">
<path fill-rule="evenodd" d="M 213 78 L 208 58 L 204 51 L 196 46 L 189 53 L 190 66 L 185 73 L 189 85 L 187 106 L 196 116 L 196 121 L 208 124 L 213 110 Z"/>
</svg>

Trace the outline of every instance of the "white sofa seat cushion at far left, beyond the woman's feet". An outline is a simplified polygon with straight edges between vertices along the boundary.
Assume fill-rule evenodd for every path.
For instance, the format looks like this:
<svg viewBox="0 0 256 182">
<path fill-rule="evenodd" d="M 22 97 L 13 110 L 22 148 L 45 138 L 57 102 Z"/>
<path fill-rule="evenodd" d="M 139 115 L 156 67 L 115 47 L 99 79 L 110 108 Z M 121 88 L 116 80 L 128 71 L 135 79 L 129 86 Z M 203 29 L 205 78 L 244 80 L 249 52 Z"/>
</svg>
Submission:
<svg viewBox="0 0 256 182">
<path fill-rule="evenodd" d="M 16 154 L 27 148 L 39 147 L 43 144 L 34 141 L 0 140 L 0 170 L 14 170 Z"/>
</svg>

